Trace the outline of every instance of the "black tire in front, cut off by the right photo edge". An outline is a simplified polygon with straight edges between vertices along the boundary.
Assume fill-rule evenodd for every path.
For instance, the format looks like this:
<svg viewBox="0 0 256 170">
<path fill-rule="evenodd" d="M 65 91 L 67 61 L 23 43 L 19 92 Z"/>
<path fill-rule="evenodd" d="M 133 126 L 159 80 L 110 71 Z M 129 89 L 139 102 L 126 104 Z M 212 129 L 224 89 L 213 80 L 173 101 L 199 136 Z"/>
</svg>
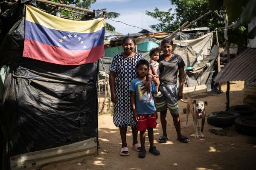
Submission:
<svg viewBox="0 0 256 170">
<path fill-rule="evenodd" d="M 235 129 L 238 133 L 247 136 L 256 136 L 256 116 L 241 116 L 236 118 Z"/>
</svg>

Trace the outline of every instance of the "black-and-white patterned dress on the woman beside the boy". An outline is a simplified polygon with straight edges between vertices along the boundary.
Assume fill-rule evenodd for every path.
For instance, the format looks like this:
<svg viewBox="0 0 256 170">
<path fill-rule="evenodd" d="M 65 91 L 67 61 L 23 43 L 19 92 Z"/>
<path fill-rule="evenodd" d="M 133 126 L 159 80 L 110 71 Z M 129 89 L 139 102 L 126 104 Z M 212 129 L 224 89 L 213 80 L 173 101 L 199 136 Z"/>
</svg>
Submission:
<svg viewBox="0 0 256 170">
<path fill-rule="evenodd" d="M 141 59 L 144 59 L 144 57 L 140 53 L 136 53 L 131 58 L 126 58 L 118 53 L 111 63 L 109 70 L 116 72 L 115 91 L 117 102 L 113 114 L 113 122 L 116 127 L 137 127 L 137 122 L 133 119 L 129 87 L 131 80 L 137 78 L 136 65 Z"/>
</svg>

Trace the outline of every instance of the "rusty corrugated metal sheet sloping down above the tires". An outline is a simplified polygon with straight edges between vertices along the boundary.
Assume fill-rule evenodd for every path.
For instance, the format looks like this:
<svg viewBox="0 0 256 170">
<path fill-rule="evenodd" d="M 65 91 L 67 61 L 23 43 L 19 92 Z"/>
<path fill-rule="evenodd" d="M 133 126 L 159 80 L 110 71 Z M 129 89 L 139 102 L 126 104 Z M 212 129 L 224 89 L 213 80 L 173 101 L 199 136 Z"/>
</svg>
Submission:
<svg viewBox="0 0 256 170">
<path fill-rule="evenodd" d="M 246 48 L 215 76 L 214 82 L 256 80 L 256 48 Z"/>
</svg>

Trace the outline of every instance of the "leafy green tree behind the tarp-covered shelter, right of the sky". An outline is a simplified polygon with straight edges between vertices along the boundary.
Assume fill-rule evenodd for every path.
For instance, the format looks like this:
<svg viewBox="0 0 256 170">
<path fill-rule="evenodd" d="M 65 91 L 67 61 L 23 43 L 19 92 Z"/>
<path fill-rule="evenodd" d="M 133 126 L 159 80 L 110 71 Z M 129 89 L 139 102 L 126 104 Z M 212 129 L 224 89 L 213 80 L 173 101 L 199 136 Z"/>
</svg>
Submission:
<svg viewBox="0 0 256 170">
<path fill-rule="evenodd" d="M 159 24 L 150 26 L 151 28 L 156 31 L 175 31 L 186 21 L 192 22 L 210 9 L 208 0 L 170 0 L 170 2 L 176 6 L 174 14 L 172 14 L 172 8 L 168 11 L 159 11 L 158 8 L 155 8 L 154 12 L 146 11 L 147 15 L 160 21 Z M 224 27 L 224 20 L 215 10 L 208 17 L 204 17 L 192 25 L 193 27 L 209 27 L 213 31 L 215 28 Z M 223 31 L 218 32 L 218 39 L 220 45 L 225 46 Z M 229 30 L 229 41 L 239 46 L 245 46 L 247 41 L 246 27 Z"/>
</svg>

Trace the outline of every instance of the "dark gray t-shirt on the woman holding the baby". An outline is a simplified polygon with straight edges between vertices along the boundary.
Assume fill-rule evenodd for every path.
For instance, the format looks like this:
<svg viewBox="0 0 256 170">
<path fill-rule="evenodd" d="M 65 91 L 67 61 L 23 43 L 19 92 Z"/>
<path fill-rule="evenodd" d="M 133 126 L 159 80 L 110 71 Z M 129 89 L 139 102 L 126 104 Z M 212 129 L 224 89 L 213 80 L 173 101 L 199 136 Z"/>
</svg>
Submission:
<svg viewBox="0 0 256 170">
<path fill-rule="evenodd" d="M 163 55 L 157 60 L 160 70 L 160 85 L 172 85 L 177 83 L 177 73 L 179 68 L 184 67 L 185 63 L 180 55 L 173 54 L 169 61 L 163 58 Z"/>
</svg>

